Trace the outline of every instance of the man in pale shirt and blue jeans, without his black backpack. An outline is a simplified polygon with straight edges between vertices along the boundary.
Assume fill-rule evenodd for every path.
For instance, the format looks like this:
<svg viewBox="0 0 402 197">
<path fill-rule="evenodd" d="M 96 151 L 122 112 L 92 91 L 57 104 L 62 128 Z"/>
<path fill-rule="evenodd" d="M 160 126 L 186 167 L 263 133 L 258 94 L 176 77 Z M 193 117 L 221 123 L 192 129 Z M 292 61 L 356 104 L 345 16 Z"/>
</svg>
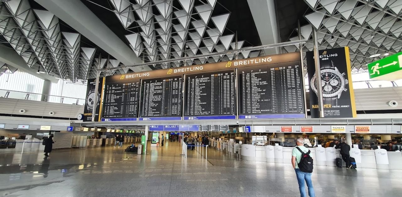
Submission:
<svg viewBox="0 0 402 197">
<path fill-rule="evenodd" d="M 297 138 L 296 147 L 292 150 L 292 165 L 296 172 L 297 182 L 299 183 L 300 197 L 306 197 L 304 181 L 306 181 L 308 187 L 308 195 L 310 197 L 315 197 L 316 195 L 314 193 L 313 183 L 311 181 L 311 173 L 303 172 L 299 168 L 301 156 L 303 155 L 301 152 L 308 153 L 309 150 L 308 148 L 304 147 L 304 139 Z"/>
</svg>

